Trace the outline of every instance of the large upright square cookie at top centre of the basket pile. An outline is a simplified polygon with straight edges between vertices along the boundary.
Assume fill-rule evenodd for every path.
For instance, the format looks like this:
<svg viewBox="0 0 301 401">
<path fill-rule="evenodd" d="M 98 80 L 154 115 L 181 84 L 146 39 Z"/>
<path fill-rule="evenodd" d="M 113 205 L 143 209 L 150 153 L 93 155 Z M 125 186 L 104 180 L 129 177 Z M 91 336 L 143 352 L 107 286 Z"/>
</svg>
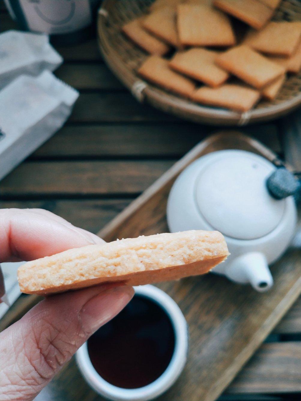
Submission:
<svg viewBox="0 0 301 401">
<path fill-rule="evenodd" d="M 179 4 L 177 9 L 177 27 L 181 45 L 235 45 L 231 22 L 220 10 L 204 4 Z"/>
</svg>

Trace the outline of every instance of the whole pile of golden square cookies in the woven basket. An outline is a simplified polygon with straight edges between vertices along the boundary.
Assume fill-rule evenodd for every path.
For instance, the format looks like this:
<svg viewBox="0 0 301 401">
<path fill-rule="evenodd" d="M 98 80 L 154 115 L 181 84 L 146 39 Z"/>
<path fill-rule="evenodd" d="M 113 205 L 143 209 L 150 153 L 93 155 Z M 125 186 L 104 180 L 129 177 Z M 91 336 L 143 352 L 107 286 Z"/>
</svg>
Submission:
<svg viewBox="0 0 301 401">
<path fill-rule="evenodd" d="M 279 3 L 155 0 L 122 31 L 150 54 L 138 69 L 147 81 L 245 112 L 261 97 L 274 100 L 287 73 L 301 69 L 301 21 L 270 21 Z"/>
</svg>

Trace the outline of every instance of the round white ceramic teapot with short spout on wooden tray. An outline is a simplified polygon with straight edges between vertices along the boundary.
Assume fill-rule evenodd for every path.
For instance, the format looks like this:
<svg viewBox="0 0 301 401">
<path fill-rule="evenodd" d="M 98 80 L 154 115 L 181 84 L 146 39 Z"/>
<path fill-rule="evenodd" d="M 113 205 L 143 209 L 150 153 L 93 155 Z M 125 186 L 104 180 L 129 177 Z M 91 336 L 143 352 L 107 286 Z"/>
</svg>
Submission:
<svg viewBox="0 0 301 401">
<path fill-rule="evenodd" d="M 293 196 L 287 196 L 289 192 L 281 195 L 283 188 L 279 195 L 273 182 L 267 185 L 276 170 L 274 164 L 251 152 L 212 152 L 179 175 L 167 203 L 171 232 L 220 231 L 231 255 L 213 272 L 250 283 L 257 291 L 273 285 L 268 265 L 287 248 L 297 221 Z M 280 187 L 282 183 L 280 179 Z"/>
</svg>

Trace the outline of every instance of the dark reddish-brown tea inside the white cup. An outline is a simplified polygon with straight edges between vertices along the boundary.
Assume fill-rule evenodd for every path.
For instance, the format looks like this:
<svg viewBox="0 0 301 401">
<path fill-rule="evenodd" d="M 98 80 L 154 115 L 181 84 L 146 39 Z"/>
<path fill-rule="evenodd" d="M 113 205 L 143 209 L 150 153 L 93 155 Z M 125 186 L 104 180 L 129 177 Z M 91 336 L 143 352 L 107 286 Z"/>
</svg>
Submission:
<svg viewBox="0 0 301 401">
<path fill-rule="evenodd" d="M 89 338 L 87 349 L 104 380 L 136 389 L 165 372 L 175 349 L 175 332 L 157 302 L 136 294 L 122 312 Z"/>
</svg>

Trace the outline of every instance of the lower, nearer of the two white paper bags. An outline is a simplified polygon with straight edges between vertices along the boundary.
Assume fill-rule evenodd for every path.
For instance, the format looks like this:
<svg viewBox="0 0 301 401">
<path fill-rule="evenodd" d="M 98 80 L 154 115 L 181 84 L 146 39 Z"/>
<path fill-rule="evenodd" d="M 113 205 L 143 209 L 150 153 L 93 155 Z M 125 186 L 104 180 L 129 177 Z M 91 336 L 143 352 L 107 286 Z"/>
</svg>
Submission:
<svg viewBox="0 0 301 401">
<path fill-rule="evenodd" d="M 78 95 L 49 71 L 0 91 L 0 179 L 61 128 Z"/>
</svg>

